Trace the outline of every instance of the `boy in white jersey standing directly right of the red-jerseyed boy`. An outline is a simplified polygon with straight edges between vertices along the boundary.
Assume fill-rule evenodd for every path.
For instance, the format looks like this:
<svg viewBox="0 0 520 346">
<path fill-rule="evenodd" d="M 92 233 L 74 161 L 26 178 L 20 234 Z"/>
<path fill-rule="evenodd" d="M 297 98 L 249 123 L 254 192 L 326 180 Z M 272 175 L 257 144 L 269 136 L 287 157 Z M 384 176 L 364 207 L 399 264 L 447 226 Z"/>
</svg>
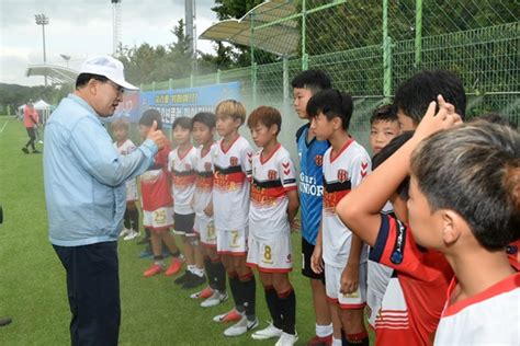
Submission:
<svg viewBox="0 0 520 346">
<path fill-rule="evenodd" d="M 189 289 L 206 281 L 199 237 L 193 232 L 195 210 L 192 201 L 195 194 L 196 149 L 191 143 L 191 118 L 185 116 L 176 118 L 172 132 L 178 147 L 168 155 L 168 171 L 172 177 L 174 232 L 183 235 L 186 262 L 185 273 L 178 277 L 174 284 Z"/>
</svg>

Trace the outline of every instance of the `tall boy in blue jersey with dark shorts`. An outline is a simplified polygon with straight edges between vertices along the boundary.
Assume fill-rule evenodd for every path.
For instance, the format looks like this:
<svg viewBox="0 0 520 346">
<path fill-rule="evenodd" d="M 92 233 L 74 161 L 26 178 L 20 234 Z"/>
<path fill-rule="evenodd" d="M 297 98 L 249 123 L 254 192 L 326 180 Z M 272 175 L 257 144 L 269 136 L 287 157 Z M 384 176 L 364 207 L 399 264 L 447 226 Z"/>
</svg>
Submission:
<svg viewBox="0 0 520 346">
<path fill-rule="evenodd" d="M 296 76 L 292 81 L 294 111 L 301 119 L 308 120 L 296 131 L 296 145 L 299 157 L 298 195 L 302 218 L 302 275 L 309 278 L 313 292 L 313 305 L 316 321 L 316 336 L 310 345 L 332 342 L 332 323 L 327 296 L 325 295 L 325 276 L 316 274 L 310 268 L 310 256 L 319 231 L 323 206 L 321 170 L 325 151 L 329 148 L 326 140 L 317 140 L 309 130 L 310 120 L 307 115 L 307 102 L 317 92 L 330 89 L 330 78 L 320 70 L 307 70 Z M 337 318 L 337 316 L 336 316 Z"/>
</svg>

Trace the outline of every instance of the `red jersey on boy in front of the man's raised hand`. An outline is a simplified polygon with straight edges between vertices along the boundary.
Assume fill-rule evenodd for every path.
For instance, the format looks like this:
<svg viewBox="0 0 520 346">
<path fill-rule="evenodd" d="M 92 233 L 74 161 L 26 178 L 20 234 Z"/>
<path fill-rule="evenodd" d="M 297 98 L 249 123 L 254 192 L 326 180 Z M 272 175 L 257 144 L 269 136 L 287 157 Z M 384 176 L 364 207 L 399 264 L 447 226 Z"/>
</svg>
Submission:
<svg viewBox="0 0 520 346">
<path fill-rule="evenodd" d="M 170 141 L 167 140 L 155 158 L 154 165 L 140 176 L 140 195 L 143 210 L 154 211 L 161 207 L 173 206 L 171 198 L 171 178 L 168 172 L 168 154 L 171 151 Z"/>
</svg>

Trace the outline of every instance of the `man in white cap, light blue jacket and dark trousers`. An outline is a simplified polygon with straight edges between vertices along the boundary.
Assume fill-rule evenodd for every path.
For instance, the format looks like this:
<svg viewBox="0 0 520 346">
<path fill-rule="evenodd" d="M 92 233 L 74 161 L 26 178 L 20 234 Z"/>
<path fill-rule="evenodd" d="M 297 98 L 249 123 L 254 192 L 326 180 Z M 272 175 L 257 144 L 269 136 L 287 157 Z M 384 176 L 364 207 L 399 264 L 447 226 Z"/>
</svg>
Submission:
<svg viewBox="0 0 520 346">
<path fill-rule="evenodd" d="M 125 181 L 144 173 L 166 141 L 152 126 L 138 149 L 117 154 L 100 118 L 114 113 L 125 89 L 137 88 L 125 81 L 123 64 L 109 56 L 88 59 L 76 91 L 45 128 L 49 240 L 67 272 L 72 345 L 117 345 Z"/>
</svg>

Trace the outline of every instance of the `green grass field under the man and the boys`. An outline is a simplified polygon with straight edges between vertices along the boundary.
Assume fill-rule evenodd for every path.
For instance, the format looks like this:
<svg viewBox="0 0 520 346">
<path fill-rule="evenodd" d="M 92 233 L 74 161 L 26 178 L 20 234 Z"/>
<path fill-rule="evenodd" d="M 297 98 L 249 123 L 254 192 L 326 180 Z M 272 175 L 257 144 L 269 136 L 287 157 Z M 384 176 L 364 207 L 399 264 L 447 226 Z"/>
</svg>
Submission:
<svg viewBox="0 0 520 346">
<path fill-rule="evenodd" d="M 0 116 L 0 204 L 4 223 L 0 226 L 0 315 L 13 323 L 0 328 L 1 345 L 67 345 L 70 313 L 65 270 L 47 240 L 47 219 L 41 154 L 24 154 L 23 123 Z M 42 147 L 38 145 L 38 147 Z M 299 235 L 293 237 L 295 268 L 291 280 L 297 300 L 296 330 L 299 344 L 314 336 L 310 289 L 299 274 Z M 149 261 L 137 254 L 135 242 L 120 243 L 122 324 L 121 345 L 273 345 L 249 335 L 223 336 L 224 325 L 212 316 L 231 308 L 199 307 L 165 276 L 145 279 Z M 257 314 L 260 327 L 269 320 L 263 290 L 257 280 Z"/>
</svg>

